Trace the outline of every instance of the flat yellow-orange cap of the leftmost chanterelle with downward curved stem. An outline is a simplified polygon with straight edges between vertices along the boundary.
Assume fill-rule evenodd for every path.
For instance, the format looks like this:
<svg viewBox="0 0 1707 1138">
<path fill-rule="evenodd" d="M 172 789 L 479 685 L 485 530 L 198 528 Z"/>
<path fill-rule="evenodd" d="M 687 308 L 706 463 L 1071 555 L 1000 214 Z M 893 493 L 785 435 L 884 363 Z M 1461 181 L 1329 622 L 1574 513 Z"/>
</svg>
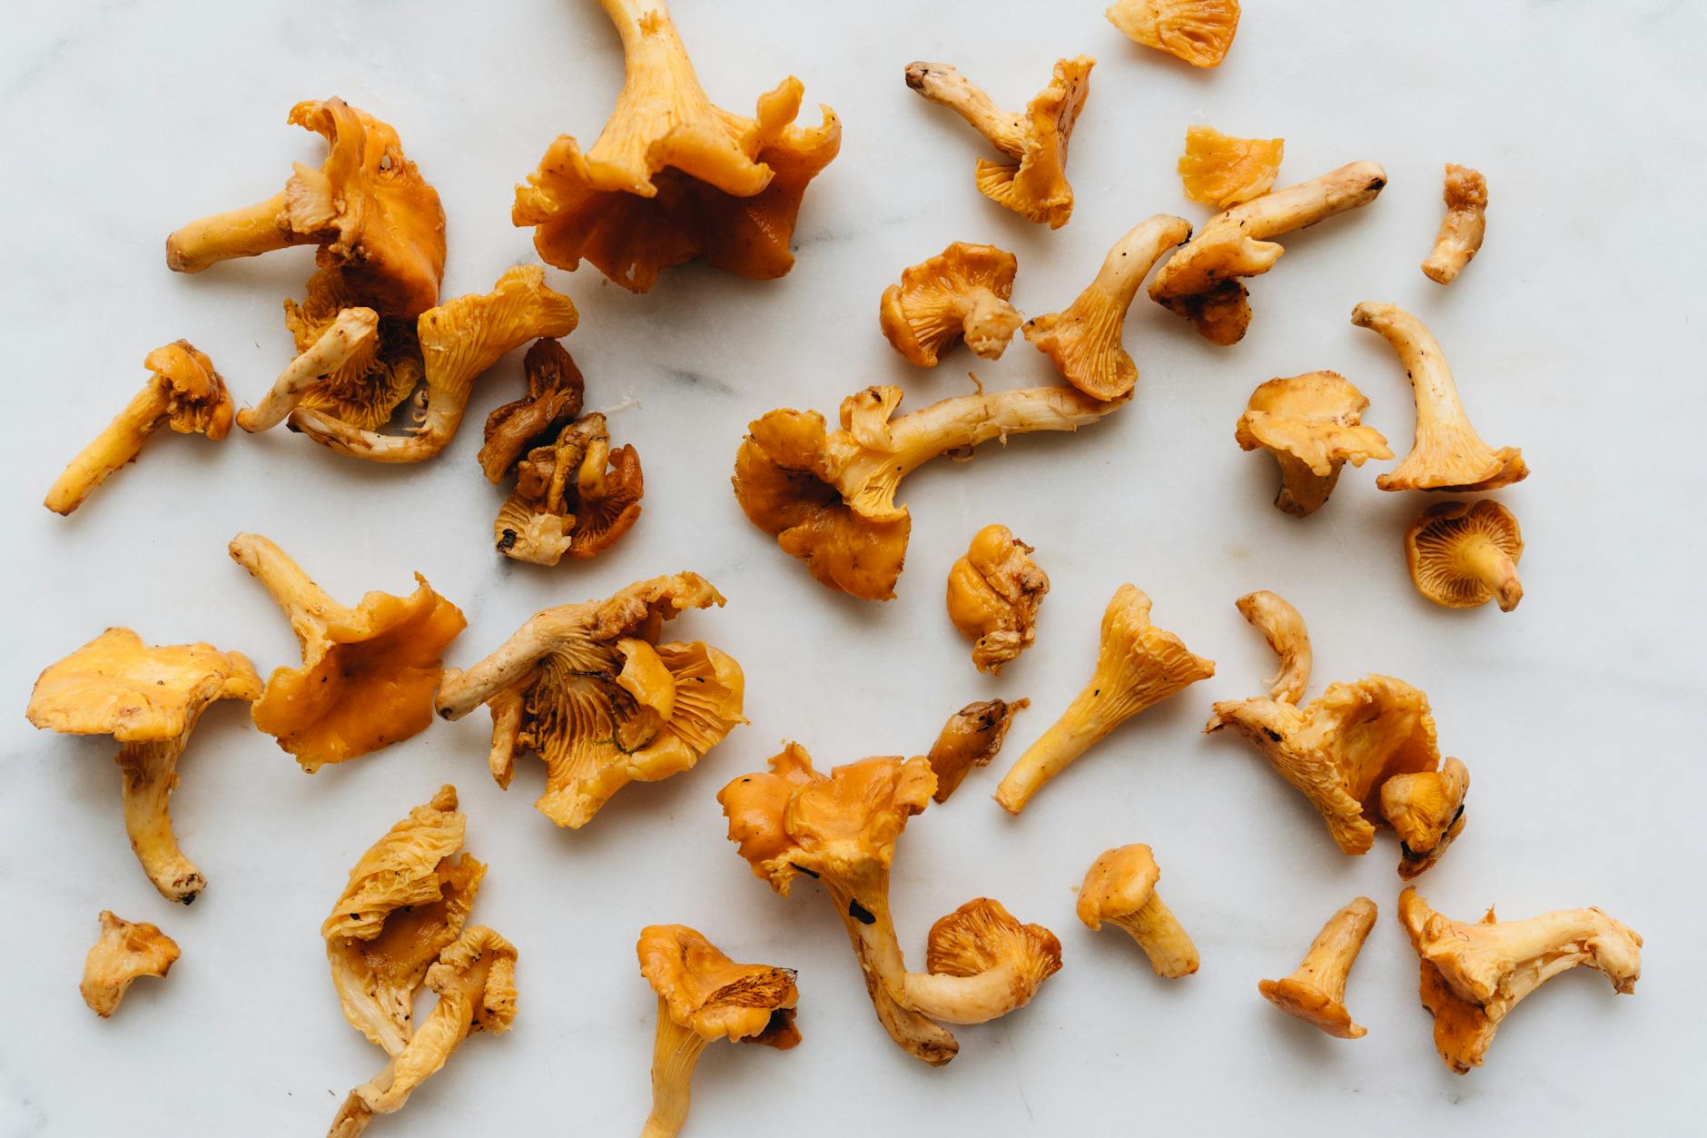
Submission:
<svg viewBox="0 0 1707 1138">
<path fill-rule="evenodd" d="M 38 677 L 26 714 L 65 735 L 154 743 L 184 735 L 213 701 L 259 695 L 261 677 L 242 653 L 149 648 L 130 629 L 108 629 Z"/>
</svg>

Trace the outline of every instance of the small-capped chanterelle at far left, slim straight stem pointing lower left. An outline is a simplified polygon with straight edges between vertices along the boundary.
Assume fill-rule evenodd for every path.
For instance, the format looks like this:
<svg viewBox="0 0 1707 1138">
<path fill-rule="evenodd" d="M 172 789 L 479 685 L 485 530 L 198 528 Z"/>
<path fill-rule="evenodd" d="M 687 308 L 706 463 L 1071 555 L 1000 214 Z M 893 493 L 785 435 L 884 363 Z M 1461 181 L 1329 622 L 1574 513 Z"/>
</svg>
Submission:
<svg viewBox="0 0 1707 1138">
<path fill-rule="evenodd" d="M 154 372 L 142 391 L 55 478 L 41 502 L 53 513 L 68 514 L 82 506 L 108 475 L 142 453 L 142 444 L 162 424 L 178 434 L 205 434 L 215 443 L 230 432 L 232 402 L 225 381 L 189 340 L 154 349 L 142 366 Z"/>
</svg>

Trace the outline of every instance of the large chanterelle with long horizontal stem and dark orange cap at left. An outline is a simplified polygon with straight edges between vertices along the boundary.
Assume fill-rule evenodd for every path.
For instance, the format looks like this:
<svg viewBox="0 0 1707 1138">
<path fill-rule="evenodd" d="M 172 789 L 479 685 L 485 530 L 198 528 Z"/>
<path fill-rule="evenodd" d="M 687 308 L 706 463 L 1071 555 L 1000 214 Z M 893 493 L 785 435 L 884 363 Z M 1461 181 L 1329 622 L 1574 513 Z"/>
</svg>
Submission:
<svg viewBox="0 0 1707 1138">
<path fill-rule="evenodd" d="M 1120 403 L 1067 388 L 1019 388 L 946 398 L 891 419 L 893 386 L 842 400 L 842 429 L 818 412 L 773 410 L 753 420 L 736 455 L 734 489 L 748 519 L 799 557 L 826 588 L 891 600 L 913 519 L 896 506 L 901 478 L 937 455 L 1028 431 L 1077 431 Z"/>
</svg>

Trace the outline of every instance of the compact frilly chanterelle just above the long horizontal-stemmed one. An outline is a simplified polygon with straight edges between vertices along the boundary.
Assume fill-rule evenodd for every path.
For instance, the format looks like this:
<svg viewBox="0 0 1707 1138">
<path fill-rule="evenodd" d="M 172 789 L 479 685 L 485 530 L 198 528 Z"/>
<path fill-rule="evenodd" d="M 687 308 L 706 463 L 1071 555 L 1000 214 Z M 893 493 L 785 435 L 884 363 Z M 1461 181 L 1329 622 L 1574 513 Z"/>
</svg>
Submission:
<svg viewBox="0 0 1707 1138">
<path fill-rule="evenodd" d="M 883 290 L 877 325 L 906 362 L 935 367 L 964 338 L 973 355 L 1000 359 L 1019 330 L 1014 296 L 1019 261 L 993 244 L 956 241 L 929 261 L 901 270 Z"/>
</svg>

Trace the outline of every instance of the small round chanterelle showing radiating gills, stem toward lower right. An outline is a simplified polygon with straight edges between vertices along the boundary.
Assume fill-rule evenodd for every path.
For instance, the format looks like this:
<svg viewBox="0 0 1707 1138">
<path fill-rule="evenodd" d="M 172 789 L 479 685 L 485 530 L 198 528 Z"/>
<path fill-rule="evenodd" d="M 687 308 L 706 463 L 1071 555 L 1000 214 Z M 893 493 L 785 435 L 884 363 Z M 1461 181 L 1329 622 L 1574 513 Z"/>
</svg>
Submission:
<svg viewBox="0 0 1707 1138">
<path fill-rule="evenodd" d="M 1441 502 L 1405 530 L 1412 584 L 1446 608 L 1478 608 L 1497 600 L 1500 612 L 1511 612 L 1523 600 L 1521 559 L 1518 519 L 1495 501 Z"/>
</svg>

